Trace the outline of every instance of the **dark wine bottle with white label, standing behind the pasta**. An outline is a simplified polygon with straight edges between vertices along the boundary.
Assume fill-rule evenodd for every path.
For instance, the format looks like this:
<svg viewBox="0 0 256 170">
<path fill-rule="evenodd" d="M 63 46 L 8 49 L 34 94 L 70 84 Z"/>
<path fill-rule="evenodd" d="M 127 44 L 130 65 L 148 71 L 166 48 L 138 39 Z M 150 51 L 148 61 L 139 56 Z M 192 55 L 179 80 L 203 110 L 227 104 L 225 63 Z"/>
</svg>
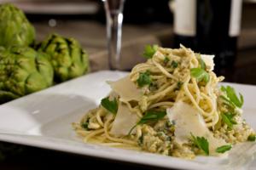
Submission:
<svg viewBox="0 0 256 170">
<path fill-rule="evenodd" d="M 215 54 L 215 71 L 225 74 L 236 61 L 242 0 L 176 0 L 174 46 Z"/>
</svg>

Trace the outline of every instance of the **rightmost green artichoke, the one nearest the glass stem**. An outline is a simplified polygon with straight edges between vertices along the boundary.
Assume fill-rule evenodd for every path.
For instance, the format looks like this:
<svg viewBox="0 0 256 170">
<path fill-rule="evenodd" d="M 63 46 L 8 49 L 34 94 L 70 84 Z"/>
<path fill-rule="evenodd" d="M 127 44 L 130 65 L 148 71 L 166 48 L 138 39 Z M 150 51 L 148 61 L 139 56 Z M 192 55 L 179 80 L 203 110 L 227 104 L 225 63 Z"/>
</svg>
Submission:
<svg viewBox="0 0 256 170">
<path fill-rule="evenodd" d="M 38 51 L 49 54 L 55 70 L 55 82 L 63 82 L 89 71 L 88 54 L 73 38 L 49 35 L 38 44 Z"/>
</svg>

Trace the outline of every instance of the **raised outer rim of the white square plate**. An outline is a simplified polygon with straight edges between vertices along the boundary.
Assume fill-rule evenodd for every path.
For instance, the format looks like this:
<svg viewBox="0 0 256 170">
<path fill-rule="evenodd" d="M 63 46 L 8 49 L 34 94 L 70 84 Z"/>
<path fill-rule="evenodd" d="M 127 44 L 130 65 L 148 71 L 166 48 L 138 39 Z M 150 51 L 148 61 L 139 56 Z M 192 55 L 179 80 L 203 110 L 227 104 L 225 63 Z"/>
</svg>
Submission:
<svg viewBox="0 0 256 170">
<path fill-rule="evenodd" d="M 46 88 L 39 92 L 29 94 L 29 95 L 26 95 L 19 99 L 9 101 L 3 105 L 0 105 L 0 108 L 4 105 L 13 105 L 15 103 L 19 103 L 20 100 L 22 102 L 22 100 L 26 100 L 26 98 L 30 98 L 30 96 L 35 95 L 35 94 L 41 94 L 41 93 L 44 94 L 45 92 L 47 92 L 49 90 L 52 90 L 54 88 L 59 88 L 69 82 L 74 82 L 76 80 L 83 79 L 83 78 L 89 77 L 89 76 L 94 76 L 96 74 L 101 74 L 101 73 L 108 74 L 109 72 L 114 73 L 114 74 L 120 74 L 120 76 L 125 76 L 125 74 L 128 73 L 125 71 L 96 71 L 96 72 L 90 73 L 88 75 L 84 75 L 83 77 L 78 77 L 78 78 L 75 78 L 75 79 L 67 81 L 67 82 L 62 82 L 53 87 Z M 226 84 L 226 85 L 234 84 L 234 85 L 238 85 L 238 86 L 256 89 L 256 86 L 253 86 L 250 84 L 241 84 L 241 83 L 234 83 L 234 82 L 222 82 L 222 84 Z M 15 143 L 15 144 L 30 145 L 33 147 L 39 147 L 39 148 L 44 148 L 44 149 L 49 149 L 49 150 L 59 150 L 59 151 L 70 152 L 73 154 L 79 154 L 79 155 L 84 155 L 84 156 L 93 156 L 93 157 L 100 157 L 103 159 L 110 159 L 110 160 L 115 160 L 115 161 L 126 161 L 126 162 L 131 162 L 131 163 L 139 163 L 139 164 L 150 165 L 150 166 L 154 166 L 154 167 L 167 167 L 167 168 L 172 167 L 172 168 L 179 168 L 179 169 L 183 169 L 183 168 L 189 168 L 189 169 L 209 169 L 209 168 L 211 169 L 212 168 L 212 169 L 214 169 L 214 166 L 216 166 L 216 165 L 212 165 L 212 164 L 210 164 L 210 165 L 206 164 L 206 166 L 204 167 L 204 166 L 202 166 L 202 164 L 200 164 L 196 161 L 186 161 L 186 163 L 184 163 L 185 160 L 181 159 L 181 158 L 176 158 L 176 157 L 172 157 L 172 156 L 161 156 L 161 155 L 146 153 L 146 152 L 142 152 L 142 153 L 143 153 L 143 155 L 146 154 L 146 156 L 147 155 L 150 156 L 149 159 L 145 159 L 145 156 L 142 156 L 141 159 L 137 159 L 136 156 L 135 157 L 130 156 L 130 155 L 123 156 L 122 152 L 120 152 L 120 153 L 115 152 L 114 154 L 109 154 L 108 150 L 100 150 L 99 151 L 99 150 L 90 149 L 90 148 L 86 148 L 86 147 L 84 147 L 84 150 L 81 150 L 80 147 L 75 147 L 73 144 L 67 145 L 67 144 L 65 144 L 65 142 L 63 143 L 60 141 L 59 141 L 59 143 L 55 143 L 53 141 L 56 141 L 57 138 L 53 138 L 53 137 L 50 138 L 50 137 L 41 136 L 43 139 L 51 139 L 48 142 L 45 142 L 45 140 L 40 141 L 40 138 L 38 138 L 37 136 L 36 136 L 36 138 L 33 138 L 33 137 L 35 137 L 34 135 L 29 135 L 32 138 L 28 137 L 26 139 L 27 136 L 28 135 L 26 135 L 26 134 L 20 135 L 20 134 L 15 134 L 15 133 L 4 133 L 4 132 L 1 132 L 1 129 L 0 129 L 0 141 L 5 141 L 5 142 L 10 142 L 10 143 Z M 65 139 L 61 139 L 61 140 L 65 140 Z M 93 145 L 97 145 L 97 144 L 93 144 Z M 159 158 L 166 157 L 163 160 L 166 160 L 166 159 L 171 160 L 172 159 L 176 162 L 175 162 L 175 164 L 173 164 L 172 161 L 165 163 L 163 161 L 160 161 L 159 159 L 157 159 L 157 161 L 152 161 L 151 156 L 157 156 Z M 170 162 L 172 162 L 172 163 L 170 163 Z M 222 168 L 222 167 L 219 167 L 219 165 L 218 165 L 218 168 Z"/>
</svg>

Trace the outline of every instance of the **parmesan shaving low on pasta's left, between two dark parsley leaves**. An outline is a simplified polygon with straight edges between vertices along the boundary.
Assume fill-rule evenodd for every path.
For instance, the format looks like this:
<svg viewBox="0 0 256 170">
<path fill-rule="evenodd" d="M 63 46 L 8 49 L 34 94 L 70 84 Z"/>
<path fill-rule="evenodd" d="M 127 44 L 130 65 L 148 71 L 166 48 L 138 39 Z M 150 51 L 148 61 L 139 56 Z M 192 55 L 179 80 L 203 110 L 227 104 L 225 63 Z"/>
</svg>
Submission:
<svg viewBox="0 0 256 170">
<path fill-rule="evenodd" d="M 127 105 L 119 104 L 119 110 L 113 121 L 110 133 L 115 136 L 127 135 L 138 120 L 137 114 L 131 112 Z"/>
</svg>

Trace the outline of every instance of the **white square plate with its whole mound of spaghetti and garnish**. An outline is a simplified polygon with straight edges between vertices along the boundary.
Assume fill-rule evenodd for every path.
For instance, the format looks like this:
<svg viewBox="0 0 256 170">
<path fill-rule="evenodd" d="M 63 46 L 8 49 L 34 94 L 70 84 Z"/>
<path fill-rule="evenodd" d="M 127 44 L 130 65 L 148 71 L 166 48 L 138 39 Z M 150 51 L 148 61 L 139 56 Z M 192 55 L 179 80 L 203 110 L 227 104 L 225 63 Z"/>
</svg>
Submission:
<svg viewBox="0 0 256 170">
<path fill-rule="evenodd" d="M 131 72 L 98 71 L 0 105 L 0 140 L 158 167 L 256 165 L 256 87 L 222 82 L 213 55 L 146 46 Z"/>
</svg>

